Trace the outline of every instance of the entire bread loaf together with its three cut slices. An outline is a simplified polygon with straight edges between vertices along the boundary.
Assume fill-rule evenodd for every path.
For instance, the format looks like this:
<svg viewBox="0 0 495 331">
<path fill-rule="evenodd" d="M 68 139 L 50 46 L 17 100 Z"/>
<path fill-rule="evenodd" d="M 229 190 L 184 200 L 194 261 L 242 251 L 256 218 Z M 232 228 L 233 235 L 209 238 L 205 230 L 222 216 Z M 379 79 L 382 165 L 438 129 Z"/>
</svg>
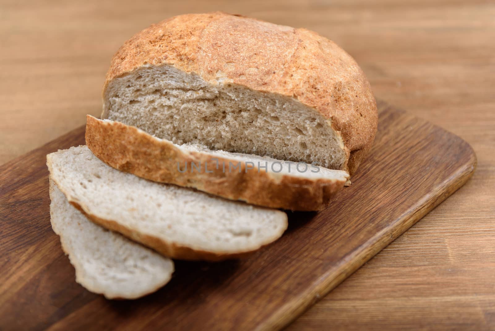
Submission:
<svg viewBox="0 0 495 331">
<path fill-rule="evenodd" d="M 52 228 L 76 280 L 107 298 L 163 286 L 168 258 L 221 261 L 275 241 L 287 215 L 269 208 L 325 208 L 377 130 L 370 85 L 334 42 L 222 12 L 128 40 L 101 118 L 88 116 L 88 146 L 47 165 Z"/>
</svg>

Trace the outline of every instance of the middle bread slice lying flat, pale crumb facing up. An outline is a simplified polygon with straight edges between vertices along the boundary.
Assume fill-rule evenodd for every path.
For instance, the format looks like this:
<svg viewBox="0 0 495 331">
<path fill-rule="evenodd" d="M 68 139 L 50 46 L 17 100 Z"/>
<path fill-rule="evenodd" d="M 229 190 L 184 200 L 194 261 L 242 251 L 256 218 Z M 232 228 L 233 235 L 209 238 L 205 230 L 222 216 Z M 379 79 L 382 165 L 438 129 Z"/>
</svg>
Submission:
<svg viewBox="0 0 495 331">
<path fill-rule="evenodd" d="M 160 184 L 116 170 L 87 146 L 47 156 L 50 176 L 88 218 L 170 258 L 236 258 L 278 239 L 287 215 L 278 210 Z"/>
</svg>

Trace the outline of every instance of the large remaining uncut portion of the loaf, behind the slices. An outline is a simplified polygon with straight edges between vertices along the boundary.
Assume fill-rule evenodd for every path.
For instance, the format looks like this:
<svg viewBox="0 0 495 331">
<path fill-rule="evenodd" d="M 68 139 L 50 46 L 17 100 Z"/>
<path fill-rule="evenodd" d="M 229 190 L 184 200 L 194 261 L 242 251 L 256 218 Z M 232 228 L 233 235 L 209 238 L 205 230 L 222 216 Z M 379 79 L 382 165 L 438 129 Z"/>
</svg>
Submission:
<svg viewBox="0 0 495 331">
<path fill-rule="evenodd" d="M 169 18 L 113 56 L 108 118 L 175 144 L 355 172 L 377 131 L 363 71 L 331 40 L 222 12 Z"/>
</svg>

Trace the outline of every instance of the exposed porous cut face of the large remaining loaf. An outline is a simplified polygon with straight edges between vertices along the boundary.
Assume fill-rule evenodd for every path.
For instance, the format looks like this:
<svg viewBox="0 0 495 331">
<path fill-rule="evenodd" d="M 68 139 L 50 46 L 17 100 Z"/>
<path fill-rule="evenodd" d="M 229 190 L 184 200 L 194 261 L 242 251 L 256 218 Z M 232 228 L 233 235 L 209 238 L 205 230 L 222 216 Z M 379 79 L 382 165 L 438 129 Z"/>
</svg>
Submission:
<svg viewBox="0 0 495 331">
<path fill-rule="evenodd" d="M 331 120 L 284 96 L 212 85 L 173 66 L 144 66 L 105 90 L 102 118 L 136 126 L 176 144 L 315 162 L 342 169 L 347 160 Z"/>
</svg>

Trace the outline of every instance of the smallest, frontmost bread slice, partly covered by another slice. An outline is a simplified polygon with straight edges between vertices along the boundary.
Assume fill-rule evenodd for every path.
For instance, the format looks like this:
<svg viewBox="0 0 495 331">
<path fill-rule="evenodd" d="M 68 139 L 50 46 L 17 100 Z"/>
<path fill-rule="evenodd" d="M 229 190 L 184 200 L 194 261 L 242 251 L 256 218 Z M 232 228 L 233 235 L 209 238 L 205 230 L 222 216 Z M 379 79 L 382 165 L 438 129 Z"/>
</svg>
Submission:
<svg viewBox="0 0 495 331">
<path fill-rule="evenodd" d="M 76 269 L 76 281 L 107 299 L 135 299 L 165 285 L 174 263 L 89 221 L 50 179 L 50 221 Z"/>
</svg>

